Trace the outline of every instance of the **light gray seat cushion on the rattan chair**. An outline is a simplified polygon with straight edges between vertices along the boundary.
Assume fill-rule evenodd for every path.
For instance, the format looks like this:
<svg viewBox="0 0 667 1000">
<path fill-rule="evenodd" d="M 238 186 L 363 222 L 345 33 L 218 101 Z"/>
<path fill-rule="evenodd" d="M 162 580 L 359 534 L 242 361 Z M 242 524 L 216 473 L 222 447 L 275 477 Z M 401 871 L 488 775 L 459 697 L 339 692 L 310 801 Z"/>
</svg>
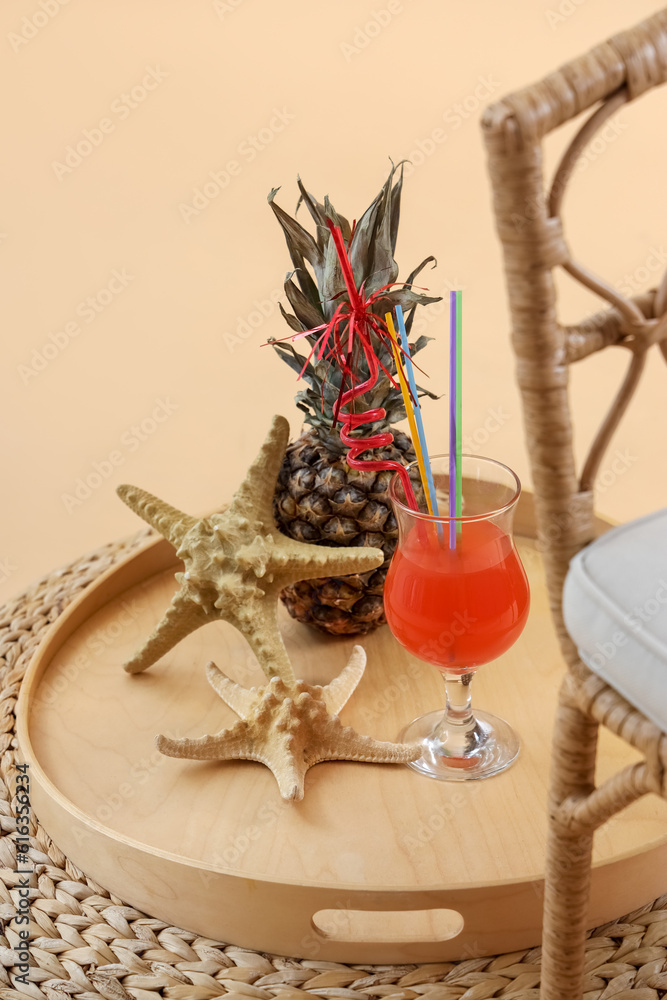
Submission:
<svg viewBox="0 0 667 1000">
<path fill-rule="evenodd" d="M 667 509 L 574 557 L 563 615 L 583 662 L 667 731 Z"/>
</svg>

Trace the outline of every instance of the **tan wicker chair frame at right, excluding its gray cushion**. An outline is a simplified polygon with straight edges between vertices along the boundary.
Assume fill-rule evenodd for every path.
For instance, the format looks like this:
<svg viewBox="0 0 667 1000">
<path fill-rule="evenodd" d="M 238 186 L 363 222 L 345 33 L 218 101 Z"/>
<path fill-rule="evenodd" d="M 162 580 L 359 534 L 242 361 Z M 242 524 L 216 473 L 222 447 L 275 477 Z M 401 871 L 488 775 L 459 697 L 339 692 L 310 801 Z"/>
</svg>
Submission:
<svg viewBox="0 0 667 1000">
<path fill-rule="evenodd" d="M 608 664 L 596 671 L 593 663 L 591 670 L 589 656 L 586 665 L 582 637 L 575 641 L 563 618 L 563 587 L 570 562 L 577 553 L 583 555 L 599 545 L 589 543 L 596 535 L 593 489 L 601 459 L 637 388 L 648 349 L 658 344 L 667 360 L 667 280 L 657 290 L 626 298 L 573 260 L 560 216 L 567 181 L 586 144 L 625 102 L 665 81 L 667 10 L 662 10 L 541 82 L 492 105 L 482 121 L 504 252 L 538 532 L 553 617 L 569 668 L 560 695 L 552 758 L 543 1000 L 582 996 L 594 831 L 648 792 L 667 795 L 667 724 L 660 726 L 645 710 L 640 711 L 641 698 L 638 702 L 632 691 L 624 691 L 626 697 L 621 697 L 605 670 Z M 567 149 L 547 191 L 542 168 L 544 137 L 588 110 L 593 113 Z M 559 324 L 552 275 L 556 267 L 564 268 L 611 308 L 577 326 Z M 578 475 L 572 450 L 568 365 L 611 346 L 629 351 L 629 367 Z M 664 683 L 658 680 L 667 702 L 667 669 L 662 676 Z M 667 716 L 667 710 L 661 711 Z M 644 760 L 595 787 L 600 724 L 640 750 Z"/>
</svg>

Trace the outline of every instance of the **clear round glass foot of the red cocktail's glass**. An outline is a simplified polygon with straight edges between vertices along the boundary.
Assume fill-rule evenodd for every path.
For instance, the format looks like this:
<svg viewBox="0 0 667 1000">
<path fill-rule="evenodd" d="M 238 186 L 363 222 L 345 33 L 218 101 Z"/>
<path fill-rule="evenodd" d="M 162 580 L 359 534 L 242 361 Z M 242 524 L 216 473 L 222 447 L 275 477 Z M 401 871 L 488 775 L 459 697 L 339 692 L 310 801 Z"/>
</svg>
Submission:
<svg viewBox="0 0 667 1000">
<path fill-rule="evenodd" d="M 442 744 L 434 737 L 442 722 L 442 709 L 415 719 L 400 735 L 401 743 L 421 743 L 422 755 L 410 761 L 408 767 L 438 781 L 473 781 L 499 774 L 519 755 L 521 741 L 509 723 L 490 712 L 475 710 L 479 739 L 477 746 L 461 757 L 442 752 Z"/>
</svg>

